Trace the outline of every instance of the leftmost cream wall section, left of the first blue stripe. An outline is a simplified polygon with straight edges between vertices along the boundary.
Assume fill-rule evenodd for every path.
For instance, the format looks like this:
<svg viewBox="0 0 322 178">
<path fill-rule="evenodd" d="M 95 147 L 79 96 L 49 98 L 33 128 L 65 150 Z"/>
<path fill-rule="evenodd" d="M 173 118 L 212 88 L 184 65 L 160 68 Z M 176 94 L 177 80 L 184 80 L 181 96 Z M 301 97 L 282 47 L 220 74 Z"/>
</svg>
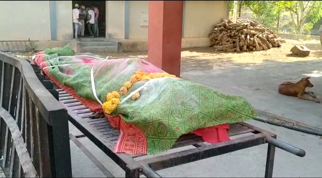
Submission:
<svg viewBox="0 0 322 178">
<path fill-rule="evenodd" d="M 0 1 L 0 40 L 50 40 L 49 1 Z"/>
</svg>

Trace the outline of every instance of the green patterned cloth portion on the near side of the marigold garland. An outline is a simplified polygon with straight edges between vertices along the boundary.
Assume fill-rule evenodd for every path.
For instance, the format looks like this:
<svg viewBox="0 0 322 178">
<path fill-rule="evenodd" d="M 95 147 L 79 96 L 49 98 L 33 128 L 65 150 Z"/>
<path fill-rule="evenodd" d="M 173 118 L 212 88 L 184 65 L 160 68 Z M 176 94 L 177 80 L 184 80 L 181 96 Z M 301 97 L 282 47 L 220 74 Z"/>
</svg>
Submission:
<svg viewBox="0 0 322 178">
<path fill-rule="evenodd" d="M 125 122 L 147 137 L 147 151 L 155 154 L 172 147 L 183 134 L 198 128 L 249 120 L 256 116 L 245 98 L 226 95 L 180 78 L 161 78 L 141 90 L 136 101 L 118 107 Z"/>
</svg>

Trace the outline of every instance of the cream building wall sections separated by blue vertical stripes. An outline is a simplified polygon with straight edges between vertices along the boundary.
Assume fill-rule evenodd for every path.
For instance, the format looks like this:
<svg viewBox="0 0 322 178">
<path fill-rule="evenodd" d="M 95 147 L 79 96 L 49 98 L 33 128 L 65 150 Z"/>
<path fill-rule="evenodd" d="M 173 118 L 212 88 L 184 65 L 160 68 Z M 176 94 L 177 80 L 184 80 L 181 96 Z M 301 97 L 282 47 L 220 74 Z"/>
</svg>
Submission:
<svg viewBox="0 0 322 178">
<path fill-rule="evenodd" d="M 72 39 L 72 1 L 56 1 L 57 40 Z M 111 39 L 124 39 L 124 1 L 106 1 L 107 33 Z M 0 1 L 1 41 L 50 40 L 49 1 Z M 12 13 L 12 11 L 17 13 Z M 184 38 L 206 38 L 214 23 L 227 15 L 226 1 L 185 1 Z M 141 12 L 148 1 L 129 1 L 129 39 L 147 39 L 147 27 L 140 27 Z"/>
</svg>

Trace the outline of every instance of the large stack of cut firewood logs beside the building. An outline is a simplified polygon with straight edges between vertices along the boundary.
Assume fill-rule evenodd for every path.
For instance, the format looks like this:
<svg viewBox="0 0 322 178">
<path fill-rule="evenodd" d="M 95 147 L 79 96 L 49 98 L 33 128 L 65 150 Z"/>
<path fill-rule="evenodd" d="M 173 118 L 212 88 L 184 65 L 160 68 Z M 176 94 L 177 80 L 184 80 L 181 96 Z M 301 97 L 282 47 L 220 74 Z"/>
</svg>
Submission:
<svg viewBox="0 0 322 178">
<path fill-rule="evenodd" d="M 223 19 L 209 33 L 210 46 L 218 51 L 261 51 L 281 47 L 284 39 L 256 20 L 238 19 L 236 23 Z"/>
</svg>

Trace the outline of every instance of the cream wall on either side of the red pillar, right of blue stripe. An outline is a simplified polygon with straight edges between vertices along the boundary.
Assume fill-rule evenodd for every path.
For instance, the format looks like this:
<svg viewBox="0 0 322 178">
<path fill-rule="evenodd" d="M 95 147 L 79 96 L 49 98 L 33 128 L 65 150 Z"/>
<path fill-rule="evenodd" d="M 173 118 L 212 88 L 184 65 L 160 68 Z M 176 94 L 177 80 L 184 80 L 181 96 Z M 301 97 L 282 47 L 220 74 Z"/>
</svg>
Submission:
<svg viewBox="0 0 322 178">
<path fill-rule="evenodd" d="M 148 1 L 130 1 L 129 39 L 147 39 L 147 27 L 140 27 L 141 12 L 148 12 Z M 211 27 L 227 18 L 226 1 L 185 1 L 183 38 L 205 38 Z"/>
</svg>

